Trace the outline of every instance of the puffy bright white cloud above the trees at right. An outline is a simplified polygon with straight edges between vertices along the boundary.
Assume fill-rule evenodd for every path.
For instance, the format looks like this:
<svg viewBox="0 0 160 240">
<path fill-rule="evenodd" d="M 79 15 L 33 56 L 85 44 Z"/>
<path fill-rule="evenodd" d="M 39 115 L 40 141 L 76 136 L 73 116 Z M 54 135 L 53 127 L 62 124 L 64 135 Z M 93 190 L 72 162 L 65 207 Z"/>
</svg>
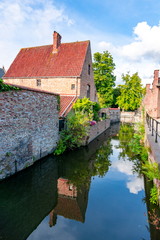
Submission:
<svg viewBox="0 0 160 240">
<path fill-rule="evenodd" d="M 155 69 L 160 65 L 160 25 L 149 26 L 147 22 L 140 22 L 133 29 L 133 36 L 129 44 L 112 44 L 101 41 L 97 44 L 99 50 L 108 50 L 116 63 L 118 82 L 122 73 L 138 72 L 142 83 L 150 83 Z"/>
</svg>

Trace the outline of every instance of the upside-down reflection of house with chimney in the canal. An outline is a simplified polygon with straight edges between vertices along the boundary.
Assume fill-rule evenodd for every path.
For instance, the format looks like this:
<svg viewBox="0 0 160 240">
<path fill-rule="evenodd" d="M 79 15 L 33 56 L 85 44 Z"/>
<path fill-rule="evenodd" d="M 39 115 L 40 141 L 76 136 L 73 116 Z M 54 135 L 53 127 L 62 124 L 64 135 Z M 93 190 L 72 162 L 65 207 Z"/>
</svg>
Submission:
<svg viewBox="0 0 160 240">
<path fill-rule="evenodd" d="M 50 226 L 56 224 L 56 216 L 76 221 L 85 221 L 85 212 L 88 203 L 88 189 L 77 189 L 67 179 L 58 179 L 58 203 L 50 213 Z"/>
</svg>

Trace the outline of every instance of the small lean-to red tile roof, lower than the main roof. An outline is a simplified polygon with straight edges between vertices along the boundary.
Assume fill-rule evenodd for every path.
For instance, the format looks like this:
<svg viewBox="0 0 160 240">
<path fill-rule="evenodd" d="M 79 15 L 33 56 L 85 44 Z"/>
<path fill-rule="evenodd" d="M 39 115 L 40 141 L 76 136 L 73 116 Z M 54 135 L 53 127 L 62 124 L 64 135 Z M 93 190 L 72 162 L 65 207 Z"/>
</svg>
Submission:
<svg viewBox="0 0 160 240">
<path fill-rule="evenodd" d="M 71 110 L 73 103 L 77 100 L 76 96 L 60 96 L 60 117 L 66 117 Z"/>
</svg>

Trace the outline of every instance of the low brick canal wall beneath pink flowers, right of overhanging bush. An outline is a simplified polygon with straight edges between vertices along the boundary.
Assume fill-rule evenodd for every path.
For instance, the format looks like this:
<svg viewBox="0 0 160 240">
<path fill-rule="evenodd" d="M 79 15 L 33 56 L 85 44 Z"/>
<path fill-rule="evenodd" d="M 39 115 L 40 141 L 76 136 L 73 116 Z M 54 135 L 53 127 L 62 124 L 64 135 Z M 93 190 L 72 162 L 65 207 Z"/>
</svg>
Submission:
<svg viewBox="0 0 160 240">
<path fill-rule="evenodd" d="M 106 129 L 110 127 L 110 119 L 105 119 L 103 121 L 97 122 L 95 125 L 90 127 L 89 138 L 84 142 L 84 145 L 87 145 Z"/>
</svg>

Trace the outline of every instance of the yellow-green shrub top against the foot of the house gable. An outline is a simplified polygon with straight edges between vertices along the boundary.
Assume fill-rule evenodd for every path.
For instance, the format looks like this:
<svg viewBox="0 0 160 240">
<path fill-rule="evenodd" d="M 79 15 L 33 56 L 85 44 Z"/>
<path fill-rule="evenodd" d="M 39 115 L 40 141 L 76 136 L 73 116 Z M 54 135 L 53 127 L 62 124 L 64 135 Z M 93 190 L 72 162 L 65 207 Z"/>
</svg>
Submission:
<svg viewBox="0 0 160 240">
<path fill-rule="evenodd" d="M 73 109 L 75 110 L 76 113 L 77 112 L 87 113 L 90 121 L 99 120 L 98 112 L 100 110 L 100 105 L 97 102 L 90 101 L 86 97 L 78 99 L 76 103 L 73 105 Z"/>
</svg>

